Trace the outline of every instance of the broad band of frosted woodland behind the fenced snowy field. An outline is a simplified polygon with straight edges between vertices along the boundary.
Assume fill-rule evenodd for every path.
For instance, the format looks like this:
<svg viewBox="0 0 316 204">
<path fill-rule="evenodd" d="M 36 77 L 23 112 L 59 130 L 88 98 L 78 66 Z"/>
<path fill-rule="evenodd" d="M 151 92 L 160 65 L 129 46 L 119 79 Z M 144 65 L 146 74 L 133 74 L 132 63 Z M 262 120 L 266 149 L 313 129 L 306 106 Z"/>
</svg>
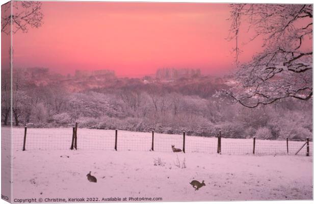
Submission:
<svg viewBox="0 0 316 204">
<path fill-rule="evenodd" d="M 43 75 L 41 71 L 38 73 L 41 77 L 54 77 L 49 72 Z M 249 109 L 234 103 L 229 96 L 216 94 L 216 90 L 206 95 L 203 86 L 198 85 L 195 91 L 186 93 L 175 88 L 178 82 L 145 84 L 141 79 L 133 79 L 134 83 L 130 79 L 118 79 L 116 88 L 74 92 L 68 89 L 68 84 L 39 83 L 49 79 L 25 80 L 25 75 L 18 70 L 13 74 L 12 117 L 16 126 L 62 127 L 77 121 L 81 127 L 92 129 L 155 130 L 167 134 L 186 131 L 188 135 L 205 137 L 215 136 L 219 130 L 223 137 L 230 138 L 304 139 L 312 134 L 311 101 L 284 98 L 271 105 Z M 199 83 L 196 78 L 181 80 L 183 86 L 192 81 Z M 89 83 L 89 80 L 84 82 Z M 205 78 L 201 83 L 205 86 Z M 3 74 L 4 125 L 9 124 L 10 118 L 9 86 Z M 225 87 L 212 83 L 208 86 Z"/>
</svg>

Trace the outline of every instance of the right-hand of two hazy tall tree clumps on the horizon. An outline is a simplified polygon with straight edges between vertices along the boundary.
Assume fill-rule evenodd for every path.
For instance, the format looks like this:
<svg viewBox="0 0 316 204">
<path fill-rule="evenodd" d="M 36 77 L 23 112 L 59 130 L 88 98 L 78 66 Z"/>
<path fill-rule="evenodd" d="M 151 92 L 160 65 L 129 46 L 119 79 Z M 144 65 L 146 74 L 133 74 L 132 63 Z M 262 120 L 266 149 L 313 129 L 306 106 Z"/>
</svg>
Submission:
<svg viewBox="0 0 316 204">
<path fill-rule="evenodd" d="M 156 78 L 173 80 L 179 78 L 200 77 L 200 69 L 175 69 L 175 68 L 161 68 L 156 71 Z"/>
</svg>

